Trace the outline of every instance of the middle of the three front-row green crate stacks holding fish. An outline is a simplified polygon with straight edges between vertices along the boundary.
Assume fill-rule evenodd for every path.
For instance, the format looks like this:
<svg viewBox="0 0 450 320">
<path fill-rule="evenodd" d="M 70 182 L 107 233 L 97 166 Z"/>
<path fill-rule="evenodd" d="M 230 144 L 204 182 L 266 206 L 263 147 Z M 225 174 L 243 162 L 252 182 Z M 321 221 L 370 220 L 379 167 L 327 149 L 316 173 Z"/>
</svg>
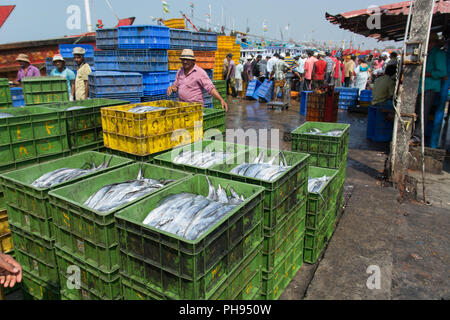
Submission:
<svg viewBox="0 0 450 320">
<path fill-rule="evenodd" d="M 148 179 L 173 180 L 164 188 L 191 176 L 151 164 L 133 163 L 50 192 L 50 208 L 56 232 L 56 257 L 64 299 L 122 299 L 119 238 L 114 214 L 138 200 L 107 212 L 91 209 L 84 203 L 104 186 L 137 179 L 140 170 Z M 67 267 L 71 265 L 81 270 L 80 289 L 63 287 L 69 276 Z"/>
</svg>

